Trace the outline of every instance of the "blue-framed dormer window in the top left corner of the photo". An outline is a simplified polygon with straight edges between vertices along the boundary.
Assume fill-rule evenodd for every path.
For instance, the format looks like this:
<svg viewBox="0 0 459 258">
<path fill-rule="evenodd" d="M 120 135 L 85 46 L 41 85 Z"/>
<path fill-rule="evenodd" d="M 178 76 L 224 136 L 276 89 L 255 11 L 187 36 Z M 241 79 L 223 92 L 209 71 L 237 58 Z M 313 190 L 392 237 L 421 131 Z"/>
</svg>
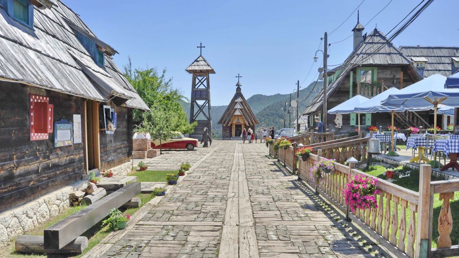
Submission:
<svg viewBox="0 0 459 258">
<path fill-rule="evenodd" d="M 28 28 L 34 28 L 34 6 L 29 0 L 0 0 L 8 15 Z"/>
</svg>

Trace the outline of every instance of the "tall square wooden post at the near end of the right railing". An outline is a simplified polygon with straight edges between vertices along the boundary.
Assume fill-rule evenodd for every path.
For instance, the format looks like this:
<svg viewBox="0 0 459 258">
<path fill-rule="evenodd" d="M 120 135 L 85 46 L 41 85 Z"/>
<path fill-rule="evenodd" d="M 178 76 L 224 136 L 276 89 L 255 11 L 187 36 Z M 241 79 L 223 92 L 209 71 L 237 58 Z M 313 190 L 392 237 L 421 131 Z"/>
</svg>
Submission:
<svg viewBox="0 0 459 258">
<path fill-rule="evenodd" d="M 431 165 L 423 164 L 419 172 L 418 225 L 416 230 L 416 258 L 429 258 L 431 224 Z"/>
</svg>

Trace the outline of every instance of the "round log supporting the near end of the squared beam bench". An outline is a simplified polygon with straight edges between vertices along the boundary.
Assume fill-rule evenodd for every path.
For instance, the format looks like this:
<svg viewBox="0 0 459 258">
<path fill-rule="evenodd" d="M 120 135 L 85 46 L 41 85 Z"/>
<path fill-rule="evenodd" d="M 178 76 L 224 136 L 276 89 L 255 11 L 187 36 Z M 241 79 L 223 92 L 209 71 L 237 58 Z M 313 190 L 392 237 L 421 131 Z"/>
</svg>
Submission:
<svg viewBox="0 0 459 258">
<path fill-rule="evenodd" d="M 61 249 L 45 250 L 43 236 L 18 236 L 15 247 L 16 252 L 20 253 L 82 253 L 88 247 L 88 238 L 78 236 Z"/>
</svg>

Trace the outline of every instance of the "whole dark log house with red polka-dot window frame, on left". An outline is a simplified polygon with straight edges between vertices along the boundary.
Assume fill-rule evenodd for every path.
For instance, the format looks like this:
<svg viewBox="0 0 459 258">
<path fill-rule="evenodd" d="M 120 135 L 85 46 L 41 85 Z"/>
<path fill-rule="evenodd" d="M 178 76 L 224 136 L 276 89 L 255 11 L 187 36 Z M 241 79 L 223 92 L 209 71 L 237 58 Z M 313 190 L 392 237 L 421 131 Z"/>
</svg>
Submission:
<svg viewBox="0 0 459 258">
<path fill-rule="evenodd" d="M 129 162 L 149 111 L 59 0 L 0 0 L 0 212 Z"/>
</svg>

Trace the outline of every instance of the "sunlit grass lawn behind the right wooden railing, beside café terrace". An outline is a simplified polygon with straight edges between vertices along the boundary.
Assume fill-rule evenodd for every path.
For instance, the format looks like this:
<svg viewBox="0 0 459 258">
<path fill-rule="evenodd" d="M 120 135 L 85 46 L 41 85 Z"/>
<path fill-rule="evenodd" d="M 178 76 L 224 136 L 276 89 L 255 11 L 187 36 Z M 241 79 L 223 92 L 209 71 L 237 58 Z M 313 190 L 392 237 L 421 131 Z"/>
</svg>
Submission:
<svg viewBox="0 0 459 258">
<path fill-rule="evenodd" d="M 398 176 L 394 175 L 394 181 L 392 183 L 396 185 L 400 185 L 404 188 L 407 188 L 412 191 L 419 192 L 419 171 L 418 170 L 413 170 L 410 168 L 403 168 L 403 167 L 398 167 L 398 171 L 407 171 L 411 170 L 410 176 L 409 177 L 403 177 L 403 178 L 398 178 Z M 365 173 L 373 175 L 375 177 L 381 178 L 381 179 L 387 179 L 383 173 L 386 171 L 386 168 L 382 166 L 370 166 L 368 171 L 365 171 Z M 435 178 L 434 176 L 431 177 L 431 181 L 437 181 L 440 179 Z M 433 204 L 433 229 L 432 229 L 432 248 L 437 247 L 437 239 L 438 239 L 438 215 L 440 214 L 440 209 L 442 207 L 443 201 L 440 201 L 438 199 L 439 194 L 435 194 L 434 196 L 434 204 Z M 386 202 L 384 202 L 386 203 Z M 393 202 L 391 202 L 393 205 Z M 459 221 L 459 213 L 455 212 L 459 210 L 459 192 L 454 193 L 454 200 L 450 201 L 451 205 L 451 211 L 453 215 L 453 222 Z M 402 208 L 401 206 L 398 207 L 398 218 L 401 218 L 401 212 Z M 417 213 L 416 213 L 417 215 Z M 420 223 L 417 221 L 416 218 L 416 223 Z M 409 212 L 407 212 L 407 225 L 409 224 Z M 459 223 L 453 223 L 453 231 L 451 232 L 451 240 L 453 242 L 453 245 L 457 244 L 459 241 Z"/>
</svg>

